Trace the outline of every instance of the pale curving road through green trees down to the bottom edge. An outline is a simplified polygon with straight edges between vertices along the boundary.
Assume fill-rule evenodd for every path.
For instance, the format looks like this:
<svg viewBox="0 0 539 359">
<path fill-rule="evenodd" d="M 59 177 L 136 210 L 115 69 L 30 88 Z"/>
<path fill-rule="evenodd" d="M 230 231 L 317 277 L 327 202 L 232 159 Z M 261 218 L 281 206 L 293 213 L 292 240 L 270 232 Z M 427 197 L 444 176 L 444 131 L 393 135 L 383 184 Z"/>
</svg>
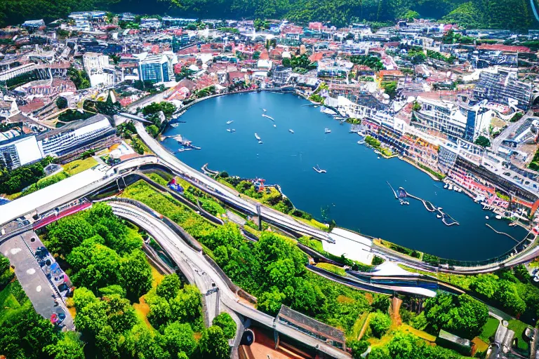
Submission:
<svg viewBox="0 0 539 359">
<path fill-rule="evenodd" d="M 196 252 L 189 247 L 189 245 L 182 241 L 182 239 L 169 229 L 160 219 L 152 217 L 148 215 L 147 212 L 140 210 L 140 208 L 126 203 L 110 202 L 109 205 L 112 206 L 116 215 L 134 222 L 138 226 L 144 228 L 149 234 L 155 236 L 159 244 L 163 246 L 164 250 L 166 250 L 178 266 L 180 266 L 180 269 L 182 269 L 185 276 L 187 276 L 189 282 L 193 281 L 194 283 L 197 283 L 197 286 L 201 285 L 201 287 L 199 287 L 201 292 L 204 292 L 206 288 L 213 287 L 213 283 L 215 283 L 215 287 L 217 287 L 220 292 L 220 302 L 227 308 L 232 309 L 232 311 L 246 316 L 247 318 L 251 318 L 251 320 L 255 320 L 266 327 L 274 328 L 281 334 L 296 339 L 307 346 L 317 348 L 319 351 L 331 355 L 333 358 L 350 359 L 350 355 L 344 351 L 340 351 L 339 349 L 326 344 L 323 341 L 314 339 L 307 334 L 293 330 L 291 327 L 287 327 L 286 325 L 275 321 L 274 317 L 262 313 L 248 304 L 240 302 L 239 297 L 229 289 L 225 280 L 223 280 L 217 271 L 208 264 L 201 252 Z M 213 304 L 207 304 L 208 307 L 211 305 Z"/>
</svg>

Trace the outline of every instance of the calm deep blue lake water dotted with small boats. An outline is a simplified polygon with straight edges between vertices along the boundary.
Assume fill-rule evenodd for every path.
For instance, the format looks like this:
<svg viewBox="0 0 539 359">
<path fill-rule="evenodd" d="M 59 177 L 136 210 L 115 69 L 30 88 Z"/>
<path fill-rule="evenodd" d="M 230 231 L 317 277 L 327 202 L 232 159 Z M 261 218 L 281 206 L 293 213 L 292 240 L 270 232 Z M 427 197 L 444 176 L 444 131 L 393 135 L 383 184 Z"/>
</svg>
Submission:
<svg viewBox="0 0 539 359">
<path fill-rule="evenodd" d="M 441 182 L 412 165 L 398 158 L 378 158 L 357 144 L 360 137 L 349 133 L 349 124 L 340 125 L 319 108 L 302 106 L 307 104 L 281 93 L 215 97 L 189 108 L 180 118 L 186 123 L 168 128 L 164 135 L 181 134 L 202 147 L 176 154 L 193 168 L 208 163 L 212 170 L 230 175 L 265 178 L 267 184 L 280 184 L 297 208 L 317 219 L 335 219 L 338 226 L 439 257 L 488 259 L 516 244 L 486 223 L 519 241 L 526 236 L 524 229 L 494 219 L 470 197 L 443 189 Z M 262 109 L 275 121 L 262 117 Z M 234 122 L 227 125 L 227 121 Z M 324 128 L 331 133 L 324 134 Z M 255 133 L 263 144 L 258 144 Z M 178 149 L 173 139 L 163 144 L 170 151 Z M 327 173 L 315 172 L 315 165 Z M 444 208 L 460 226 L 444 225 L 419 201 L 400 205 L 386 181 Z"/>
</svg>

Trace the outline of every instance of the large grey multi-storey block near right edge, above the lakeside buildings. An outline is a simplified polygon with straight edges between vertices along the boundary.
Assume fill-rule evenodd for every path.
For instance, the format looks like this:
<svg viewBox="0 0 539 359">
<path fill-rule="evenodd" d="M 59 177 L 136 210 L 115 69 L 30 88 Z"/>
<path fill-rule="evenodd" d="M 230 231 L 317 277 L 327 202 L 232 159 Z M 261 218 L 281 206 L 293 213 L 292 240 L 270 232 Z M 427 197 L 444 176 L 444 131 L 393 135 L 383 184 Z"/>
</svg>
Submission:
<svg viewBox="0 0 539 359">
<path fill-rule="evenodd" d="M 481 72 L 474 88 L 477 100 L 498 102 L 524 111 L 530 107 L 531 93 L 531 83 L 521 82 L 516 74 L 501 70 L 497 73 Z"/>
</svg>

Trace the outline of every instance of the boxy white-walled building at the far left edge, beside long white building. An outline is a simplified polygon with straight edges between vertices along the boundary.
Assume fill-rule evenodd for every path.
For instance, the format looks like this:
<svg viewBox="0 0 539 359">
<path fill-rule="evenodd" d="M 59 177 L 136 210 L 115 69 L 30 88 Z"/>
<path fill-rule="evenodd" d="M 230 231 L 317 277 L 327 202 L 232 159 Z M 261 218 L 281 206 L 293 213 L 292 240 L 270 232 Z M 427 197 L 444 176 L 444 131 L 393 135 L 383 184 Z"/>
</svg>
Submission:
<svg viewBox="0 0 539 359">
<path fill-rule="evenodd" d="M 0 142 L 0 166 L 13 170 L 43 158 L 35 136 L 18 136 Z"/>
</svg>

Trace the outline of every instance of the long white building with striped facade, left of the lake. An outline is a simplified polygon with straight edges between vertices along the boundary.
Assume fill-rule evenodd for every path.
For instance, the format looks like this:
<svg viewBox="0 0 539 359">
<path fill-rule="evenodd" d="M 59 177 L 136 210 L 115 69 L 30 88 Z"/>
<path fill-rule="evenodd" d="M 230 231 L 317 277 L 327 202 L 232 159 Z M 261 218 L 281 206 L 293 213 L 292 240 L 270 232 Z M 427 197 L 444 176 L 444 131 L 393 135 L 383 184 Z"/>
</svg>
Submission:
<svg viewBox="0 0 539 359">
<path fill-rule="evenodd" d="M 101 149 L 116 142 L 116 130 L 109 118 L 96 114 L 87 120 L 68 125 L 36 136 L 44 156 L 69 158 L 89 149 Z"/>
</svg>

